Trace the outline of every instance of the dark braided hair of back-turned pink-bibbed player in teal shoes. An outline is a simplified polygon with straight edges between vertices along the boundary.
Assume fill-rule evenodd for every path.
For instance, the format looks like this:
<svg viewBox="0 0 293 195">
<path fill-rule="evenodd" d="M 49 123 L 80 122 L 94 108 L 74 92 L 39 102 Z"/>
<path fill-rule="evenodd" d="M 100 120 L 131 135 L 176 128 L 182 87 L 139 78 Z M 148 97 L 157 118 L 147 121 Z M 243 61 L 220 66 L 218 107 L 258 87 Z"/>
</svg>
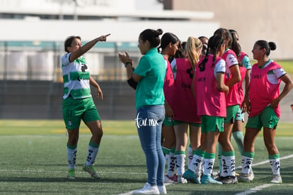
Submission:
<svg viewBox="0 0 293 195">
<path fill-rule="evenodd" d="M 221 35 L 214 35 L 211 38 L 209 38 L 209 43 L 207 45 L 207 50 L 210 50 L 213 54 L 212 58 L 212 67 L 214 66 L 214 63 L 216 62 L 217 57 L 217 51 L 219 50 L 219 47 L 224 44 L 224 39 Z M 205 59 L 202 60 L 200 65 L 198 67 L 200 68 L 200 71 L 205 71 L 205 63 L 207 62 L 207 56 L 208 53 L 205 55 Z"/>
</svg>

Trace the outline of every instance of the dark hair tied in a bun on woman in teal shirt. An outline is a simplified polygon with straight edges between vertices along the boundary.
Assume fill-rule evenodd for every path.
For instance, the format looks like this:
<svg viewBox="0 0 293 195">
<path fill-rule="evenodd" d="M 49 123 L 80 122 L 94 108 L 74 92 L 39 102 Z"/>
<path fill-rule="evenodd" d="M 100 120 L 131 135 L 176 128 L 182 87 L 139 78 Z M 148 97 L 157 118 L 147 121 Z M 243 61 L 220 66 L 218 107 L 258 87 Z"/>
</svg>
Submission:
<svg viewBox="0 0 293 195">
<path fill-rule="evenodd" d="M 156 48 L 160 45 L 159 35 L 163 34 L 163 30 L 160 28 L 158 30 L 146 29 L 139 34 L 139 38 L 145 42 L 149 41 L 151 48 Z"/>
</svg>

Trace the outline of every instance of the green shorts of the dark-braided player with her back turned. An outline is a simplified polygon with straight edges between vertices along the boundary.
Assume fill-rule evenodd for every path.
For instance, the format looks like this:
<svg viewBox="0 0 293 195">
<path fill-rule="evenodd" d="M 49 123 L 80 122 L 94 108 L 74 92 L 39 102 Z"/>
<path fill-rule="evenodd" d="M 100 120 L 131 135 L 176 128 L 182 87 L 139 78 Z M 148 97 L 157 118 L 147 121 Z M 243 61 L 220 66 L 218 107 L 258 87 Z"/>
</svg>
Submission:
<svg viewBox="0 0 293 195">
<path fill-rule="evenodd" d="M 224 118 L 219 116 L 202 116 L 202 133 L 224 132 Z"/>
</svg>

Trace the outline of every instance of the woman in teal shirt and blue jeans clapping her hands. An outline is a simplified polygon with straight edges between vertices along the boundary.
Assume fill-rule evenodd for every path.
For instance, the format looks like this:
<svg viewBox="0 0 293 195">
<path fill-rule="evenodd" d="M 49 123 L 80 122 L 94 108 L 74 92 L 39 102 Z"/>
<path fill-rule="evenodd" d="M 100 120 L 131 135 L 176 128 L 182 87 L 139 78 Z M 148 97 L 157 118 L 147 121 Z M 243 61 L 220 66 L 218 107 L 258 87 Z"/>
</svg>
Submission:
<svg viewBox="0 0 293 195">
<path fill-rule="evenodd" d="M 163 82 L 166 69 L 165 60 L 158 52 L 159 35 L 163 31 L 146 29 L 139 35 L 138 48 L 142 53 L 137 68 L 127 52 L 119 53 L 119 58 L 127 69 L 127 82 L 136 89 L 135 119 L 139 140 L 146 156 L 148 179 L 142 189 L 133 194 L 166 194 L 163 184 L 165 159 L 161 149 L 161 126 L 165 117 Z"/>
</svg>

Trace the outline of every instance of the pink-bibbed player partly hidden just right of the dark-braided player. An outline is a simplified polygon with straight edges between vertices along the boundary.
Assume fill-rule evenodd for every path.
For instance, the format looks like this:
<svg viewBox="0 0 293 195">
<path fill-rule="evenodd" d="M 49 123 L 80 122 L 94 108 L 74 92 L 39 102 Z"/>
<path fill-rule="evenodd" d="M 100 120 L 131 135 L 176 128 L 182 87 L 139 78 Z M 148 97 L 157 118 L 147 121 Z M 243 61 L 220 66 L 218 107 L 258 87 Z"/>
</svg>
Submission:
<svg viewBox="0 0 293 195">
<path fill-rule="evenodd" d="M 225 42 L 225 52 L 222 55 L 226 62 L 226 77 L 225 84 L 229 87 L 229 92 L 226 95 L 226 118 L 224 120 L 224 132 L 219 135 L 219 142 L 222 143 L 222 153 L 219 153 L 222 160 L 221 177 L 219 181 L 224 184 L 236 184 L 237 177 L 235 176 L 235 152 L 231 144 L 231 130 L 235 121 L 236 113 L 241 105 L 238 94 L 238 82 L 241 81 L 237 56 L 233 50 L 230 50 L 232 37 L 229 30 L 219 28 L 214 32 L 214 35 L 220 35 Z M 220 167 L 221 169 L 221 167 Z"/>
</svg>

